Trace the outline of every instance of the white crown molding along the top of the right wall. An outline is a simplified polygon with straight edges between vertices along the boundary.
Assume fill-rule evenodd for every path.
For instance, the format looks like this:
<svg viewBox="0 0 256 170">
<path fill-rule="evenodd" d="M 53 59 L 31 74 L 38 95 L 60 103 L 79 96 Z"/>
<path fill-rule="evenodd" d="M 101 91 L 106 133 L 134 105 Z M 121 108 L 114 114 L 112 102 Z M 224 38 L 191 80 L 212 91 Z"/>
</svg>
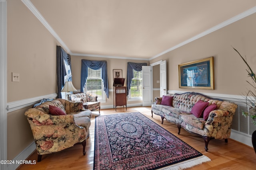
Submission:
<svg viewBox="0 0 256 170">
<path fill-rule="evenodd" d="M 205 35 L 208 35 L 209 33 L 212 33 L 212 32 L 214 32 L 214 31 L 216 31 L 216 30 L 218 30 L 218 29 L 220 29 L 222 27 L 225 27 L 225 26 L 227 26 L 227 25 L 229 25 L 231 23 L 234 23 L 234 22 L 236 22 L 238 20 L 241 20 L 242 18 L 245 18 L 245 17 L 247 17 L 247 16 L 249 16 L 251 14 L 254 14 L 255 12 L 256 12 L 256 6 L 254 6 L 250 10 L 242 12 L 241 14 L 238 14 L 237 16 L 234 16 L 234 17 L 230 18 L 229 20 L 226 20 L 226 21 L 224 21 L 224 22 L 222 22 L 222 23 L 220 23 L 220 24 L 218 24 L 218 25 L 216 25 L 216 26 L 214 26 L 214 27 L 212 27 L 212 28 L 210 28 L 210 29 L 208 29 L 208 30 L 206 30 L 206 31 L 204 31 L 204 32 L 202 32 L 202 33 L 200 33 L 200 34 L 190 38 L 190 39 L 188 39 L 188 40 L 186 40 L 186 41 L 183 41 L 182 43 L 180 43 L 178 45 L 175 45 L 174 47 L 171 47 L 170 49 L 168 49 L 166 51 L 163 51 L 162 53 L 159 53 L 158 55 L 155 55 L 154 57 L 150 58 L 149 60 L 152 60 L 152 59 L 155 59 L 157 57 L 160 57 L 161 55 L 164 55 L 164 54 L 166 54 L 166 53 L 168 53 L 168 52 L 170 52 L 170 51 L 172 51 L 174 49 L 177 49 L 177 48 L 179 48 L 179 47 L 181 47 L 183 45 L 186 45 L 186 44 L 188 44 L 188 43 L 190 43 L 192 41 L 195 41 L 196 39 L 204 37 Z"/>
</svg>

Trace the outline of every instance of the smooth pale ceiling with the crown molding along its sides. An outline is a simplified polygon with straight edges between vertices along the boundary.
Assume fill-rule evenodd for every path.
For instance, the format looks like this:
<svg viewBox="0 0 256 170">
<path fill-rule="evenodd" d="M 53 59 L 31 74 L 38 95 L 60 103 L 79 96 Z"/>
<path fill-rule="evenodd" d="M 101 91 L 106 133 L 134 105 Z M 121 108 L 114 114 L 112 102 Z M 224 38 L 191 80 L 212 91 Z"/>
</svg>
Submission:
<svg viewBox="0 0 256 170">
<path fill-rule="evenodd" d="M 256 0 L 22 0 L 71 55 L 150 60 L 256 12 Z"/>
</svg>

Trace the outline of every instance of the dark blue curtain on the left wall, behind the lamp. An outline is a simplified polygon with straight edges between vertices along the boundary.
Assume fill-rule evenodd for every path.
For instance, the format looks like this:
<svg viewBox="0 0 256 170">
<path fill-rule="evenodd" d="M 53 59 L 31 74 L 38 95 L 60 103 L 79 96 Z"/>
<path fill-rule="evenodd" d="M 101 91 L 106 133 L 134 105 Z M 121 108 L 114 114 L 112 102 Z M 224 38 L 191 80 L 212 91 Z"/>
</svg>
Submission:
<svg viewBox="0 0 256 170">
<path fill-rule="evenodd" d="M 72 81 L 71 74 L 71 57 L 64 49 L 60 46 L 57 46 L 56 49 L 57 55 L 57 98 L 62 98 L 61 90 L 65 85 L 64 76 L 67 75 L 65 63 L 70 66 L 70 72 L 68 73 L 68 80 Z M 65 62 L 65 63 L 64 63 Z"/>
</svg>

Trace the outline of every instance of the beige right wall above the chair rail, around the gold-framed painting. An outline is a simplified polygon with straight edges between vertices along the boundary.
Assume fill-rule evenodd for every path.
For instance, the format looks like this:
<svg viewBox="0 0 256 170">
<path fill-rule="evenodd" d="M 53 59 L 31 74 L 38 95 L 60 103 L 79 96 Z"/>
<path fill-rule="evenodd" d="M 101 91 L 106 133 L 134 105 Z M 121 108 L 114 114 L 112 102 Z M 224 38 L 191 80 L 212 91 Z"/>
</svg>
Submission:
<svg viewBox="0 0 256 170">
<path fill-rule="evenodd" d="M 246 65 L 232 49 L 235 47 L 256 70 L 256 14 L 218 29 L 200 39 L 150 61 L 167 61 L 168 90 L 240 95 L 246 91 Z M 214 56 L 215 90 L 179 88 L 178 64 Z"/>
</svg>

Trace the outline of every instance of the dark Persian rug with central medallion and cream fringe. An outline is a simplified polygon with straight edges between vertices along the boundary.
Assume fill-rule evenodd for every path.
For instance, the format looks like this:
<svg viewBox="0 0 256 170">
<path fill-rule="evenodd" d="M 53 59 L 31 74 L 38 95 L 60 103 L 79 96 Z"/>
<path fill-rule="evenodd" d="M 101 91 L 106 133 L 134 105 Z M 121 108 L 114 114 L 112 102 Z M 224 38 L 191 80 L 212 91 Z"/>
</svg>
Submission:
<svg viewBox="0 0 256 170">
<path fill-rule="evenodd" d="M 95 119 L 94 170 L 180 170 L 207 161 L 140 112 Z"/>
</svg>

